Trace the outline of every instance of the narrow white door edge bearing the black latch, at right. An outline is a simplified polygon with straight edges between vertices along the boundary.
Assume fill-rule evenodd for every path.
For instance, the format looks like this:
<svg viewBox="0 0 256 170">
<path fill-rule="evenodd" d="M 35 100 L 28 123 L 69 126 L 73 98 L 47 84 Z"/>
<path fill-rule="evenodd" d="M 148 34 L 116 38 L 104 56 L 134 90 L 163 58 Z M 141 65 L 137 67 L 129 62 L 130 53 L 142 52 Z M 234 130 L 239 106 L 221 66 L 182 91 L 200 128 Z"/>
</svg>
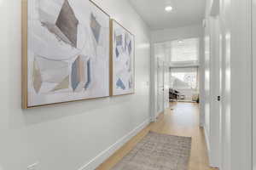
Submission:
<svg viewBox="0 0 256 170">
<path fill-rule="evenodd" d="M 210 144 L 212 150 L 212 166 L 220 165 L 220 129 L 221 129 L 221 59 L 220 59 L 220 28 L 218 16 L 212 19 L 212 82 L 211 82 L 211 127 L 210 127 Z"/>
</svg>

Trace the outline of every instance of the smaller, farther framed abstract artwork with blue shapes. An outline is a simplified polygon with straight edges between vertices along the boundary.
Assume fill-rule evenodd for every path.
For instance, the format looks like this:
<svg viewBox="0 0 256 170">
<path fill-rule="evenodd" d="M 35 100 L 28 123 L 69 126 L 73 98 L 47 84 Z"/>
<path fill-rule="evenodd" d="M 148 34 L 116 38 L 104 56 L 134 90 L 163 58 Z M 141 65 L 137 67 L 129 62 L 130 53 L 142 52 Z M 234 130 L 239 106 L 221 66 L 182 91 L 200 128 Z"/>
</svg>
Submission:
<svg viewBox="0 0 256 170">
<path fill-rule="evenodd" d="M 111 20 L 112 96 L 135 93 L 135 37 L 117 21 Z"/>
</svg>

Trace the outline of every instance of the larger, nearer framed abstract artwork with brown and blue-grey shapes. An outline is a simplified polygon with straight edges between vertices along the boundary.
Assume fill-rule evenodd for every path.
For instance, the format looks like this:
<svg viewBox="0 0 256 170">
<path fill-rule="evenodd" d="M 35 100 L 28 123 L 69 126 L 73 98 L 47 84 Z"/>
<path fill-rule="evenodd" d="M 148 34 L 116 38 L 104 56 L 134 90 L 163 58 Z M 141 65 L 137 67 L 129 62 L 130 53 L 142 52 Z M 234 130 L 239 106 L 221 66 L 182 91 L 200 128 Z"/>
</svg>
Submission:
<svg viewBox="0 0 256 170">
<path fill-rule="evenodd" d="M 23 108 L 108 97 L 110 16 L 90 0 L 23 1 Z"/>
</svg>

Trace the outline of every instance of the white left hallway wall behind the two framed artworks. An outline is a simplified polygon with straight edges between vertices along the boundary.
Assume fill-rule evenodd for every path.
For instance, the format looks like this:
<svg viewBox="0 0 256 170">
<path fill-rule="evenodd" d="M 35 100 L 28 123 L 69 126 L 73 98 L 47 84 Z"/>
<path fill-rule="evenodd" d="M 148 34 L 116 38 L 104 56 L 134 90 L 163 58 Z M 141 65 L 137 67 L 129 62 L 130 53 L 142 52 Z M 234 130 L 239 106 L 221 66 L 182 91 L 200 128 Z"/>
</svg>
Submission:
<svg viewBox="0 0 256 170">
<path fill-rule="evenodd" d="M 91 170 L 112 153 L 108 149 L 148 123 L 148 26 L 125 0 L 95 2 L 136 36 L 136 94 L 22 111 L 21 5 L 20 0 L 0 0 L 1 170 L 26 170 L 36 161 L 37 170 Z"/>
</svg>

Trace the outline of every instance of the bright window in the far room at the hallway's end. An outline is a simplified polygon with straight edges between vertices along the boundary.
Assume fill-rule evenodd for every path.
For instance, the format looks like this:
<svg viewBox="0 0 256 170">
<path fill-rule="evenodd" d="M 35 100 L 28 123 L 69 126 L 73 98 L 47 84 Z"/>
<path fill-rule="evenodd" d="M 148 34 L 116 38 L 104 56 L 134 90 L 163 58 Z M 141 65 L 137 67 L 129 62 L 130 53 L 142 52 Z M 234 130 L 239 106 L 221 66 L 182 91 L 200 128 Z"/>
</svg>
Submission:
<svg viewBox="0 0 256 170">
<path fill-rule="evenodd" d="M 171 87 L 174 89 L 197 89 L 197 68 L 171 68 Z"/>
</svg>

